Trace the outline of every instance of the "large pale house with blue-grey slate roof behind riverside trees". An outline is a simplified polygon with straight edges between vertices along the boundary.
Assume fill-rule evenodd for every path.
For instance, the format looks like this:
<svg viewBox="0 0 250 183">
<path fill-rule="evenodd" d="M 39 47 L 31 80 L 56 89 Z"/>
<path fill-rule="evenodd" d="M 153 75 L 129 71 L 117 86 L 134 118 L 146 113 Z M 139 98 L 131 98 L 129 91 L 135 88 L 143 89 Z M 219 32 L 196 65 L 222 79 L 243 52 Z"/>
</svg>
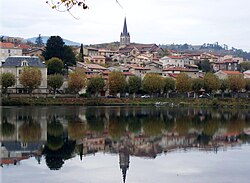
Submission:
<svg viewBox="0 0 250 183">
<path fill-rule="evenodd" d="M 1 72 L 10 72 L 16 78 L 16 84 L 8 88 L 9 93 L 28 93 L 28 91 L 21 85 L 19 77 L 24 67 L 36 67 L 42 73 L 41 85 L 35 89 L 34 93 L 47 93 L 47 67 L 42 63 L 38 57 L 31 56 L 10 56 L 6 59 L 1 67 Z"/>
</svg>

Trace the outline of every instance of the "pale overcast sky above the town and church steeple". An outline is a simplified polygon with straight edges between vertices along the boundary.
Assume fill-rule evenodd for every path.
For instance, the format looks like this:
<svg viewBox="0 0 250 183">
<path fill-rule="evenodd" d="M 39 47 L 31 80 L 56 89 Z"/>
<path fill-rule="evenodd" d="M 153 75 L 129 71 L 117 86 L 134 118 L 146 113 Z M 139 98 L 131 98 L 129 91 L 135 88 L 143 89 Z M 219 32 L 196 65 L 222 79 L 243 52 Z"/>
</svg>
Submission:
<svg viewBox="0 0 250 183">
<path fill-rule="evenodd" d="M 49 2 L 51 0 L 48 0 Z M 83 44 L 119 41 L 124 17 L 131 42 L 219 42 L 250 52 L 249 0 L 85 0 L 89 9 L 52 10 L 46 0 L 0 0 L 0 35 L 59 35 Z"/>
</svg>

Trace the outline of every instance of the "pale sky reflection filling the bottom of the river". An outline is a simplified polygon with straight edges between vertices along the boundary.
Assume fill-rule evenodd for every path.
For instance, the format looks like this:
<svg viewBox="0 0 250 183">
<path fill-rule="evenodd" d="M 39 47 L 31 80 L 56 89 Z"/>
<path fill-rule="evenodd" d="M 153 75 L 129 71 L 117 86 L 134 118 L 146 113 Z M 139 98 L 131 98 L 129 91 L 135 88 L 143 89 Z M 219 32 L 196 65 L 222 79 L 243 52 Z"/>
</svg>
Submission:
<svg viewBox="0 0 250 183">
<path fill-rule="evenodd" d="M 155 159 L 130 156 L 127 183 L 248 183 L 250 147 L 213 151 L 177 151 Z M 44 157 L 21 161 L 20 166 L 1 168 L 3 183 L 122 183 L 118 154 L 96 153 L 66 160 L 58 171 L 50 171 Z M 1 180 L 1 179 L 0 179 Z"/>
</svg>

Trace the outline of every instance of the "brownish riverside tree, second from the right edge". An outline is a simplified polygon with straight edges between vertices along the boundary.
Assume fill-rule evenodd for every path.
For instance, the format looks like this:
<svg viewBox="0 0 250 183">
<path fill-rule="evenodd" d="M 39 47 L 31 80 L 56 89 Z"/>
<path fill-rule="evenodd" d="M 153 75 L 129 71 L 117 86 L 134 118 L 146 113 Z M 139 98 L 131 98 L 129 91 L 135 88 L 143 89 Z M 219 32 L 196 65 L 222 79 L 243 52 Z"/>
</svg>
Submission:
<svg viewBox="0 0 250 183">
<path fill-rule="evenodd" d="M 238 92 L 242 89 L 245 89 L 246 81 L 244 80 L 243 76 L 229 76 L 229 88 L 233 92 Z"/>
</svg>

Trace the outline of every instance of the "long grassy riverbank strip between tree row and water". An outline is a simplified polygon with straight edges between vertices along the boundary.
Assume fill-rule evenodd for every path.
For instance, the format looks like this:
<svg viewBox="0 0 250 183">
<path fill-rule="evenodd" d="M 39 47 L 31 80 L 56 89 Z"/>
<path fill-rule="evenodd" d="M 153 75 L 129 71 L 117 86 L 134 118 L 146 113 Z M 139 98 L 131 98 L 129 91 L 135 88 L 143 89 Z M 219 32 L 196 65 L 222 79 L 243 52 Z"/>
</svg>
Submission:
<svg viewBox="0 0 250 183">
<path fill-rule="evenodd" d="M 240 107 L 250 108 L 250 99 L 190 99 L 190 98 L 34 98 L 11 97 L 2 98 L 2 106 L 19 105 L 85 105 L 85 106 L 110 106 L 110 105 L 160 105 L 166 106 L 193 106 L 193 107 Z"/>
</svg>

